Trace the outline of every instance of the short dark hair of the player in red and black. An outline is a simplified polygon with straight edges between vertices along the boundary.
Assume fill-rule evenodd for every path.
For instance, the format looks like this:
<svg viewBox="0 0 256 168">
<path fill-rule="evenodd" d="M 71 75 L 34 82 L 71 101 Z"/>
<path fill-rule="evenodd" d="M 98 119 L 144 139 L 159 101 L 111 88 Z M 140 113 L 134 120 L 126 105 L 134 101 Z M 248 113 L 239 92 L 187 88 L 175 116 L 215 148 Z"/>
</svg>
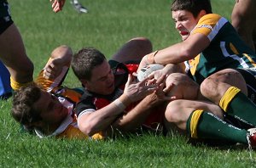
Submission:
<svg viewBox="0 0 256 168">
<path fill-rule="evenodd" d="M 106 57 L 96 48 L 82 48 L 73 55 L 72 69 L 79 80 L 90 80 L 91 70 L 103 63 Z"/>
</svg>

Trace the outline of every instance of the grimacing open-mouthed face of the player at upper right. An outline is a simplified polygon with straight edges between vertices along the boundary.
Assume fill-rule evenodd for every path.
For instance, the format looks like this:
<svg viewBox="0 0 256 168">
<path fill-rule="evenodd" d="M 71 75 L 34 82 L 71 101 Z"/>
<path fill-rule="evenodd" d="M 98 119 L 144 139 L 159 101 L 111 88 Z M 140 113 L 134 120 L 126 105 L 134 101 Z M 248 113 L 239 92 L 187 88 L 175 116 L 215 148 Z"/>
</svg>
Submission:
<svg viewBox="0 0 256 168">
<path fill-rule="evenodd" d="M 192 13 L 186 10 L 172 11 L 172 19 L 175 22 L 175 28 L 179 32 L 183 41 L 185 41 L 190 32 L 195 28 L 200 18 L 195 18 Z"/>
</svg>

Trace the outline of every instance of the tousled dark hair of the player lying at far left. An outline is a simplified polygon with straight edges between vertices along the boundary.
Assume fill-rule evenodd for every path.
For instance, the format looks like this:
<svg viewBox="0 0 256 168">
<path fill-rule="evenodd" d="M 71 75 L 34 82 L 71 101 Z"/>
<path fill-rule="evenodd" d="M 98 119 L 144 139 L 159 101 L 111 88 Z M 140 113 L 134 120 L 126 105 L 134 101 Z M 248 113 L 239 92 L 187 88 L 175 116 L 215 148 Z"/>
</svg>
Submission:
<svg viewBox="0 0 256 168">
<path fill-rule="evenodd" d="M 16 121 L 25 126 L 32 122 L 42 120 L 40 114 L 38 114 L 38 109 L 32 108 L 32 105 L 40 97 L 41 89 L 37 84 L 32 83 L 26 87 L 20 87 L 14 94 L 11 115 Z"/>
</svg>

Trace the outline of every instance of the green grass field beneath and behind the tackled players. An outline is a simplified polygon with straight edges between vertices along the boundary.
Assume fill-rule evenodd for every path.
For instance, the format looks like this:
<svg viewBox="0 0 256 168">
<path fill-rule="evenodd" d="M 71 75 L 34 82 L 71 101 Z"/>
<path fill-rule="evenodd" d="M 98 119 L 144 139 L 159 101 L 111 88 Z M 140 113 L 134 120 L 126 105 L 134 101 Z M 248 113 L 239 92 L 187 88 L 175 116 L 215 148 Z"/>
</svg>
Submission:
<svg viewBox="0 0 256 168">
<path fill-rule="evenodd" d="M 66 44 L 95 47 L 110 57 L 126 41 L 146 36 L 154 49 L 180 38 L 174 29 L 170 0 L 80 0 L 89 14 L 78 14 L 67 0 L 61 13 L 49 1 L 9 0 L 15 24 L 35 65 L 35 75 L 49 53 Z M 213 12 L 230 19 L 235 0 L 212 0 Z M 67 87 L 79 87 L 70 70 Z M 192 146 L 185 137 L 145 134 L 102 142 L 38 139 L 24 132 L 11 118 L 11 99 L 0 101 L 0 167 L 255 167 L 247 148 Z"/>
</svg>

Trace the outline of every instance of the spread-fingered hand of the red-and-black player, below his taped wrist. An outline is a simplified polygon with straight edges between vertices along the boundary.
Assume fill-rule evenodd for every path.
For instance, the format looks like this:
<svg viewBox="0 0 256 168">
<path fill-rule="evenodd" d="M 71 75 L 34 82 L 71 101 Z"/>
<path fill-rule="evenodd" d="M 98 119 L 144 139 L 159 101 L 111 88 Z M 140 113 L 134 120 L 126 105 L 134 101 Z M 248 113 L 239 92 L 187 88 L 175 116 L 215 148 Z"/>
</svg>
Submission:
<svg viewBox="0 0 256 168">
<path fill-rule="evenodd" d="M 125 83 L 124 94 L 130 99 L 131 102 L 136 102 L 153 93 L 159 88 L 157 83 L 146 85 L 148 78 L 143 81 L 137 82 L 131 75 L 128 76 L 128 81 Z"/>
</svg>

